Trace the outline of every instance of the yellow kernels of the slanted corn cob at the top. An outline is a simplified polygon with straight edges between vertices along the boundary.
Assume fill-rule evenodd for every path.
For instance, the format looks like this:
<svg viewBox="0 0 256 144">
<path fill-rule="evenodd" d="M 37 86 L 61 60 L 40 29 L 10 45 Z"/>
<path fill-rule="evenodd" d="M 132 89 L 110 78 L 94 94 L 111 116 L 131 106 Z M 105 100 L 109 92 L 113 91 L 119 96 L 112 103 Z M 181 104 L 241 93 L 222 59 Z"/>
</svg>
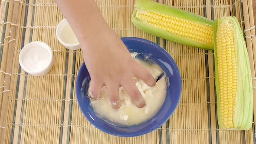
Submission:
<svg viewBox="0 0 256 144">
<path fill-rule="evenodd" d="M 171 32 L 188 39 L 195 39 L 198 42 L 213 45 L 213 27 L 195 23 L 193 21 L 165 16 L 161 13 L 153 13 L 146 10 L 138 10 L 136 17 L 140 20 L 150 21 L 157 24 L 157 28 Z M 149 19 L 150 18 L 150 19 Z M 149 20 L 148 20 L 149 19 Z M 173 23 L 173 25 L 171 25 Z M 150 23 L 148 23 L 150 24 Z"/>
</svg>

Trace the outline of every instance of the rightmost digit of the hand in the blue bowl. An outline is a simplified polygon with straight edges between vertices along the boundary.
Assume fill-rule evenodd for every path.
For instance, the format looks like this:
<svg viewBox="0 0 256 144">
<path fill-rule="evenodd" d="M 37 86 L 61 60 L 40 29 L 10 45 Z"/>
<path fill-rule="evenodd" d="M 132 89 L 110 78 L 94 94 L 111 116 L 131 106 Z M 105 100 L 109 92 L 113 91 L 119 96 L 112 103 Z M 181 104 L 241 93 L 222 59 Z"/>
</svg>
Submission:
<svg viewBox="0 0 256 144">
<path fill-rule="evenodd" d="M 135 69 L 135 77 L 143 80 L 149 86 L 156 85 L 156 80 L 154 79 L 154 77 L 151 75 L 150 72 L 148 72 L 147 69 L 145 69 L 141 65 L 137 66 L 137 68 Z"/>
</svg>

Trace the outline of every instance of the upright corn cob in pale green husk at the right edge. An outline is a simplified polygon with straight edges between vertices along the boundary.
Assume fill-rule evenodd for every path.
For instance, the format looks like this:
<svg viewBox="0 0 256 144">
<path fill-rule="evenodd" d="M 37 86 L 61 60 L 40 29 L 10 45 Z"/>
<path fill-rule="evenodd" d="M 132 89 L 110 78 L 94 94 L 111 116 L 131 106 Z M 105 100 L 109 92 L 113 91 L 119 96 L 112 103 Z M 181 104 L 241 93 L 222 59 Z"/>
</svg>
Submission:
<svg viewBox="0 0 256 144">
<path fill-rule="evenodd" d="M 248 130 L 253 119 L 249 57 L 236 17 L 214 25 L 215 84 L 220 128 Z"/>
</svg>

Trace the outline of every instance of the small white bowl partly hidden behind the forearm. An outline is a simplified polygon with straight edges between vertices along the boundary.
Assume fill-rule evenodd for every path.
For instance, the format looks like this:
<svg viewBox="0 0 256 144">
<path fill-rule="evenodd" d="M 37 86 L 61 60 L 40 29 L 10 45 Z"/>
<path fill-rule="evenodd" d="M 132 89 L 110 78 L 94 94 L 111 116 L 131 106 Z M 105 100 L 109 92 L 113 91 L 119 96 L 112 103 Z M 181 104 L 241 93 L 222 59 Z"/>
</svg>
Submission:
<svg viewBox="0 0 256 144">
<path fill-rule="evenodd" d="M 63 19 L 57 26 L 56 36 L 59 42 L 67 49 L 80 49 L 75 33 L 72 31 L 66 19 Z"/>
</svg>

